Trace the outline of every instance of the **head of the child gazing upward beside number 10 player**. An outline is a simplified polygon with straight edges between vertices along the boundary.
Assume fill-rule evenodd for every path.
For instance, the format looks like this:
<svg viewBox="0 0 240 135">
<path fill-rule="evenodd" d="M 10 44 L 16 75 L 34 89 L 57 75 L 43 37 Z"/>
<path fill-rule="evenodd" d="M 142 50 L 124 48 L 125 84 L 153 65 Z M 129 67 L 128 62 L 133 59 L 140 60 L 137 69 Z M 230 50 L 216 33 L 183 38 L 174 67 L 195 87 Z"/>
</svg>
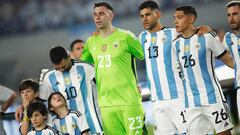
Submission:
<svg viewBox="0 0 240 135">
<path fill-rule="evenodd" d="M 55 113 L 55 109 L 66 106 L 67 101 L 60 92 L 54 92 L 48 97 L 48 109 L 50 112 Z"/>
</svg>

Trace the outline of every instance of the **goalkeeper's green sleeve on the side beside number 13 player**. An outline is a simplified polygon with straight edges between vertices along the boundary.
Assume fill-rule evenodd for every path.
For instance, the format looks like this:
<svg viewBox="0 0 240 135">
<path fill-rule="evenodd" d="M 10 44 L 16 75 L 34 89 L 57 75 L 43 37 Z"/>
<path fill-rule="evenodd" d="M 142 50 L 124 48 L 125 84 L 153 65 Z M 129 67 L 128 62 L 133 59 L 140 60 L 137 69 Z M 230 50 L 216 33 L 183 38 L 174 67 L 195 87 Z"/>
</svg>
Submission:
<svg viewBox="0 0 240 135">
<path fill-rule="evenodd" d="M 131 54 L 133 54 L 135 57 L 137 57 L 140 60 L 144 59 L 142 46 L 134 34 L 130 33 L 127 36 L 127 43 L 128 43 L 128 51 Z"/>
</svg>

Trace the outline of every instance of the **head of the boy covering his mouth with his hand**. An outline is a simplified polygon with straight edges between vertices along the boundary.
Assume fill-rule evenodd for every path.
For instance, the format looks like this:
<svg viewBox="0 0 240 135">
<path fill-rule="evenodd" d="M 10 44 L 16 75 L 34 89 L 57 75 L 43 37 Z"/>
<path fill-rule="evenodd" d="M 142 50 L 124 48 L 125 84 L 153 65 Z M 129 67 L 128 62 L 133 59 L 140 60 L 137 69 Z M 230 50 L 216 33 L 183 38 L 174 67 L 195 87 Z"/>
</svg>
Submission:
<svg viewBox="0 0 240 135">
<path fill-rule="evenodd" d="M 19 85 L 19 93 L 22 98 L 27 98 L 29 102 L 32 102 L 38 97 L 39 84 L 31 79 L 23 80 Z"/>
</svg>

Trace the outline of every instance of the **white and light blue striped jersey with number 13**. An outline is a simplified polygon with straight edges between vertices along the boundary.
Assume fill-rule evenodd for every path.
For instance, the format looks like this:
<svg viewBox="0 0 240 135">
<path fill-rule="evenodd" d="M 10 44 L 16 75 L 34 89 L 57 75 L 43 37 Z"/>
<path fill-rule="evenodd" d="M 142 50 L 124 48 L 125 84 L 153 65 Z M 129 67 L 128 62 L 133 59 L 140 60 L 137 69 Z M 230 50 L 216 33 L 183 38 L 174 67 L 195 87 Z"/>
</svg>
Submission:
<svg viewBox="0 0 240 135">
<path fill-rule="evenodd" d="M 176 56 L 171 53 L 172 40 L 177 35 L 175 28 L 164 28 L 156 33 L 145 30 L 139 35 L 152 101 L 184 98 L 182 80 L 176 69 Z"/>
</svg>

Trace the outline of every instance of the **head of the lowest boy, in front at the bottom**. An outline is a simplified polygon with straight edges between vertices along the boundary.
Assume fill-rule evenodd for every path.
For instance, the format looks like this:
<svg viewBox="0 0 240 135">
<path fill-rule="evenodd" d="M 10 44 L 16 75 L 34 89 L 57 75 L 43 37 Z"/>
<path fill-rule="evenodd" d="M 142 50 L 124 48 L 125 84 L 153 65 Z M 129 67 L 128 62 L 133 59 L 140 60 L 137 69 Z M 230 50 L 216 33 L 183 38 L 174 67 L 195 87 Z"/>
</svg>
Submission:
<svg viewBox="0 0 240 135">
<path fill-rule="evenodd" d="M 46 106 L 40 102 L 33 102 L 29 104 L 27 108 L 27 116 L 35 128 L 45 125 L 47 115 L 48 111 Z"/>
</svg>

